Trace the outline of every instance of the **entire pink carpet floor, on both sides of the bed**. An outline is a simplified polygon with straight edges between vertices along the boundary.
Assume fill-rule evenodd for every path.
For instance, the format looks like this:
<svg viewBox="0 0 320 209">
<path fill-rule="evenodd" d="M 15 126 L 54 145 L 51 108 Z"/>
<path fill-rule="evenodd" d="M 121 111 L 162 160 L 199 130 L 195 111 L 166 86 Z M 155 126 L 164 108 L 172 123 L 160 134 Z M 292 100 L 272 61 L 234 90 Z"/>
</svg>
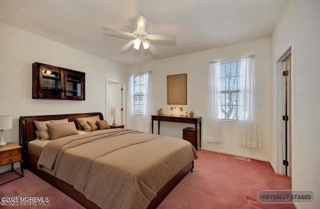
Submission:
<svg viewBox="0 0 320 209">
<path fill-rule="evenodd" d="M 262 204 L 256 195 L 262 189 L 291 189 L 291 178 L 275 174 L 268 162 L 235 160 L 234 156 L 198 150 L 193 173 L 161 202 L 157 209 L 291 209 L 293 204 Z M 18 170 L 19 171 L 19 170 Z M 0 206 L 1 208 L 74 208 L 77 202 L 28 170 L 23 178 L 0 186 L 0 197 L 48 197 L 50 205 Z M 0 175 L 0 183 L 14 173 Z"/>
</svg>

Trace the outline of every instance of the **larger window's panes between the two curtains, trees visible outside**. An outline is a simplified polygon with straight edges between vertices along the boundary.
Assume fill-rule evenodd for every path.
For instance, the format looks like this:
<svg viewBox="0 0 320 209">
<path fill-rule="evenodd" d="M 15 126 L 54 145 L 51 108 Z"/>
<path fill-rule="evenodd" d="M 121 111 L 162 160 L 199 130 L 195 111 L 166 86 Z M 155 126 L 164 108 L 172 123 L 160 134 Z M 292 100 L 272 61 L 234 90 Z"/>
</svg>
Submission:
<svg viewBox="0 0 320 209">
<path fill-rule="evenodd" d="M 240 92 L 241 61 L 220 63 L 220 103 L 218 103 L 218 118 L 225 120 L 239 120 L 239 92 Z"/>
</svg>

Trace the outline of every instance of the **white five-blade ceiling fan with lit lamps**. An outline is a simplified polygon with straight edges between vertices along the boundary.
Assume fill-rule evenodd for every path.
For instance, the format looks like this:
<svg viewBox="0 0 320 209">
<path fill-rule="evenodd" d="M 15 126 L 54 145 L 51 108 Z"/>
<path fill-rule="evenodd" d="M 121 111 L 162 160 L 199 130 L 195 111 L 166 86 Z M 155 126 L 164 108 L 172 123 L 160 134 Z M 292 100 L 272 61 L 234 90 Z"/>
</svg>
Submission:
<svg viewBox="0 0 320 209">
<path fill-rule="evenodd" d="M 145 31 L 145 24 L 146 24 L 146 18 L 142 15 L 136 16 L 136 29 L 133 30 L 132 33 L 128 33 L 125 31 L 119 31 L 116 29 L 110 29 L 110 28 L 104 28 L 101 27 L 102 30 L 116 33 L 116 34 L 122 34 L 126 36 L 131 36 L 134 39 L 129 41 L 126 45 L 124 45 L 121 50 L 125 51 L 129 47 L 133 45 L 133 48 L 136 50 L 139 50 L 140 44 L 142 43 L 143 49 L 148 49 L 153 55 L 157 54 L 157 50 L 151 45 L 151 43 L 148 40 L 165 40 L 165 41 L 175 41 L 175 36 L 173 35 L 155 35 L 155 34 L 148 34 Z"/>
</svg>

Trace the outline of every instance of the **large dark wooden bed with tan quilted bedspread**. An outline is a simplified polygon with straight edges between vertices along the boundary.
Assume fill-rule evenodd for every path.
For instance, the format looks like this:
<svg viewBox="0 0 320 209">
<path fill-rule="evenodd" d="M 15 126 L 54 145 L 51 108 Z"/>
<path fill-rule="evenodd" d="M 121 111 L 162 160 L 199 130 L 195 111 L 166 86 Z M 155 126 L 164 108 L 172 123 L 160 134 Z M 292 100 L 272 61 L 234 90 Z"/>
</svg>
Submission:
<svg viewBox="0 0 320 209">
<path fill-rule="evenodd" d="M 172 147 L 174 147 L 174 146 L 177 147 L 177 150 L 174 151 L 174 153 L 176 152 L 174 154 L 174 156 L 180 156 L 181 155 L 180 152 L 182 153 L 181 150 L 183 150 L 183 152 L 186 152 L 185 150 L 189 149 L 189 151 L 187 151 L 187 152 L 192 152 L 193 159 L 197 158 L 197 155 L 196 155 L 196 152 L 195 152 L 193 146 L 190 144 L 190 148 L 186 148 L 188 145 L 185 144 L 186 142 L 184 142 L 184 140 L 177 140 L 176 138 L 172 138 L 172 137 L 163 137 L 163 136 L 157 136 L 157 135 L 153 135 L 153 134 L 146 134 L 146 133 L 141 133 L 141 132 L 137 132 L 137 131 L 129 130 L 129 129 L 98 130 L 98 131 L 92 131 L 88 134 L 78 134 L 77 136 L 66 136 L 66 137 L 62 137 L 62 138 L 53 140 L 51 142 L 46 142 L 47 145 L 43 145 L 42 142 L 39 143 L 38 146 L 40 147 L 41 151 L 34 152 L 32 150 L 28 150 L 28 144 L 30 142 L 33 143 L 36 140 L 38 140 L 38 139 L 36 139 L 37 136 L 35 134 L 36 127 L 34 125 L 34 121 L 62 120 L 62 119 L 67 118 L 68 122 L 74 122 L 75 127 L 79 128 L 79 125 L 76 122 L 76 118 L 86 118 L 86 117 L 92 117 L 92 116 L 96 116 L 96 115 L 98 115 L 100 120 L 103 120 L 103 116 L 101 113 L 80 113 L 80 114 L 44 115 L 44 116 L 21 116 L 19 118 L 19 143 L 23 147 L 24 167 L 29 169 L 31 172 L 33 172 L 34 174 L 36 174 L 37 176 L 39 176 L 43 180 L 47 181 L 48 183 L 50 183 L 54 187 L 58 188 L 59 190 L 61 190 L 62 192 L 64 192 L 65 194 L 67 194 L 68 196 L 70 196 L 71 198 L 73 198 L 74 200 L 76 200 L 77 202 L 79 202 L 81 205 L 83 205 L 86 208 L 90 208 L 90 209 L 107 208 L 107 207 L 104 207 L 104 203 L 108 202 L 109 200 L 97 201 L 97 199 L 94 199 L 94 198 L 92 199 L 92 197 L 94 195 L 96 195 L 96 193 L 92 194 L 93 191 L 89 190 L 87 188 L 94 187 L 96 185 L 100 185 L 100 183 L 96 184 L 97 178 L 100 178 L 100 179 L 103 179 L 103 181 L 101 181 L 103 183 L 101 183 L 101 184 L 103 184 L 102 186 L 104 186 L 104 187 L 101 187 L 101 189 L 107 190 L 108 187 L 107 187 L 107 185 L 104 185 L 104 184 L 108 184 L 107 182 L 111 182 L 111 181 L 105 180 L 108 178 L 106 176 L 111 176 L 111 174 L 108 173 L 109 170 L 111 170 L 111 169 L 110 169 L 110 167 L 107 168 L 107 166 L 112 166 L 111 167 L 112 170 L 115 170 L 115 171 L 118 169 L 118 167 L 121 167 L 121 169 L 122 169 L 122 167 L 130 167 L 129 163 L 127 163 L 125 161 L 129 160 L 130 158 L 139 157 L 139 156 L 137 156 L 137 154 L 135 154 L 136 151 L 134 150 L 133 147 L 136 147 L 138 150 L 148 150 L 148 152 L 150 152 L 149 148 L 145 148 L 147 144 L 148 144 L 148 146 L 153 144 L 152 146 L 156 147 L 156 146 L 162 146 L 162 142 L 163 142 L 163 146 L 166 146 L 165 143 L 171 142 L 173 144 Z M 102 136 L 103 136 L 103 140 L 102 140 Z M 105 138 L 107 138 L 107 140 L 112 141 L 112 142 L 104 142 L 104 140 L 106 140 Z M 89 141 L 87 141 L 87 140 L 89 140 Z M 136 140 L 138 142 L 136 142 Z M 84 171 L 84 173 L 88 173 L 87 176 L 91 176 L 91 177 L 93 177 L 93 179 L 88 178 L 83 181 L 85 181 L 85 183 L 91 182 L 92 184 L 79 185 L 79 184 L 77 184 L 77 182 L 79 180 L 76 180 L 76 183 L 74 183 L 74 177 L 67 178 L 67 177 L 63 177 L 63 176 L 61 177 L 61 176 L 57 175 L 57 173 L 59 173 L 58 170 L 61 170 L 62 168 L 64 169 L 65 166 L 68 167 L 66 164 L 67 161 L 64 159 L 60 160 L 61 162 L 64 163 L 64 165 L 63 165 L 63 163 L 61 163 L 61 165 L 59 164 L 57 167 L 55 167 L 54 171 L 52 171 L 52 167 L 53 167 L 52 165 L 56 166 L 55 165 L 55 164 L 57 164 L 56 162 L 49 162 L 49 164 L 51 163 L 51 165 L 50 165 L 51 171 L 48 168 L 50 166 L 45 166 L 45 164 L 47 163 L 47 162 L 45 162 L 45 160 L 49 156 L 46 153 L 50 152 L 50 150 L 55 149 L 56 145 L 53 146 L 54 143 L 63 144 L 62 146 L 64 147 L 66 144 L 73 144 L 74 141 L 76 141 L 76 142 L 83 141 L 83 142 L 81 142 L 81 144 L 79 145 L 79 148 L 74 148 L 72 145 L 72 147 L 67 149 L 67 151 L 60 151 L 61 153 L 64 153 L 64 154 L 59 155 L 60 158 L 59 157 L 53 157 L 53 158 L 54 159 L 55 158 L 62 159 L 61 156 L 63 156 L 63 157 L 66 155 L 72 156 L 72 155 L 74 155 L 74 153 L 77 153 L 77 152 L 83 153 L 84 146 L 86 146 L 87 144 L 93 144 L 93 142 L 98 144 L 100 147 L 106 147 L 104 145 L 102 146 L 103 143 L 109 143 L 111 147 L 112 146 L 115 147 L 114 150 L 108 151 L 111 154 L 105 154 L 104 153 L 105 149 L 99 149 L 102 154 L 100 154 L 101 156 L 99 155 L 98 158 L 94 158 L 94 160 L 92 161 L 92 165 L 88 164 L 87 166 L 81 166 L 81 167 L 90 167 L 90 169 Z M 38 141 L 36 141 L 36 142 L 38 142 Z M 120 145 L 118 145 L 116 143 L 119 143 Z M 129 143 L 130 146 L 127 143 Z M 182 144 L 180 144 L 180 143 L 182 143 Z M 181 147 L 183 146 L 184 148 L 182 149 L 179 146 L 181 146 Z M 109 147 L 109 146 L 107 146 L 107 147 Z M 43 149 L 43 151 L 42 151 L 42 149 Z M 77 150 L 77 149 L 79 149 L 79 150 Z M 91 147 L 91 149 L 92 149 L 92 147 Z M 93 149 L 96 149 L 96 148 L 93 148 Z M 166 149 L 169 150 L 171 148 L 167 147 Z M 56 150 L 59 150 L 59 147 L 56 148 Z M 172 148 L 172 150 L 173 150 L 173 148 Z M 42 152 L 42 154 L 41 154 L 41 152 Z M 54 152 L 57 153 L 58 151 L 54 151 Z M 73 153 L 71 153 L 71 152 L 73 152 Z M 97 152 L 98 151 L 96 151 L 96 153 Z M 129 153 L 133 153 L 132 157 L 126 156 L 126 154 L 129 154 Z M 157 152 L 154 152 L 154 153 L 157 153 Z M 39 154 L 41 154 L 41 157 L 39 156 Z M 116 154 L 118 154 L 118 155 L 116 155 Z M 112 160 L 110 160 L 110 159 L 119 158 L 119 156 L 121 156 L 121 155 L 127 157 L 126 160 L 119 160 L 120 161 L 119 164 L 122 163 L 121 166 L 118 166 Z M 139 153 L 139 155 L 140 155 L 140 153 Z M 189 155 L 189 154 L 187 154 L 187 155 Z M 78 157 L 82 157 L 82 156 L 79 155 Z M 110 163 L 112 165 L 107 164 L 106 168 L 105 168 L 104 167 L 105 162 L 103 160 L 103 169 L 102 169 L 102 166 L 100 166 L 102 163 L 102 160 L 101 160 L 102 158 L 105 158 L 104 160 L 106 160 L 106 161 L 110 161 L 110 162 L 112 161 L 112 163 Z M 120 158 L 122 158 L 122 157 L 120 157 Z M 136 159 L 140 159 L 140 158 L 136 158 Z M 143 156 L 142 156 L 142 158 L 143 158 Z M 149 157 L 144 157 L 144 158 L 149 158 Z M 150 158 L 152 158 L 152 157 L 150 157 Z M 136 205 L 135 207 L 141 207 L 141 205 L 142 205 L 141 208 L 148 208 L 148 209 L 156 208 L 158 206 L 158 204 L 165 198 L 165 196 L 175 187 L 175 185 L 177 185 L 180 182 L 180 180 L 188 172 L 190 172 L 190 171 L 192 172 L 193 159 L 190 159 L 189 156 L 188 157 L 181 156 L 180 158 L 172 160 L 173 158 L 169 159 L 167 156 L 163 157 L 164 160 L 171 160 L 171 161 L 164 162 L 165 165 L 169 164 L 171 167 L 173 166 L 174 169 L 178 169 L 178 170 L 164 172 L 164 171 L 159 170 L 158 168 L 153 169 L 153 167 L 156 167 L 156 166 L 152 165 L 152 166 L 148 166 L 148 167 L 152 167 L 153 170 L 155 170 L 156 172 L 159 173 L 159 176 L 157 176 L 157 174 L 154 175 L 154 173 L 149 174 L 148 172 L 151 172 L 151 171 L 149 171 L 150 169 L 146 169 L 146 170 L 142 170 L 142 171 L 138 172 L 140 175 L 145 176 L 146 177 L 145 179 L 149 178 L 149 176 L 154 176 L 154 177 L 150 178 L 148 180 L 145 180 L 143 178 L 140 179 L 140 175 L 138 176 L 137 181 L 139 183 L 138 183 L 137 187 L 138 187 L 138 190 L 141 190 L 142 192 L 144 192 L 142 195 L 142 199 L 145 197 L 147 198 L 147 201 L 146 201 L 147 205 L 144 207 L 143 204 L 146 204 L 146 203 L 143 200 L 144 201 L 143 203 L 141 203 L 140 205 Z M 96 160 L 96 159 L 98 159 L 98 160 Z M 48 160 L 48 161 L 50 161 L 50 160 Z M 146 161 L 150 161 L 150 160 L 146 160 Z M 158 160 L 156 159 L 155 161 L 158 161 Z M 174 163 L 176 163 L 176 161 L 178 161 L 178 162 L 181 161 L 181 163 L 184 163 L 185 165 L 183 164 L 183 166 L 181 166 L 181 163 L 178 165 L 175 165 Z M 42 162 L 44 165 L 39 164 L 39 162 Z M 72 160 L 70 160 L 70 162 L 72 162 Z M 90 161 L 88 161 L 88 162 L 90 162 Z M 151 163 L 151 162 L 143 162 L 142 163 L 143 166 L 137 165 L 136 167 L 144 168 L 147 166 L 148 163 Z M 171 163 L 172 163 L 172 165 L 171 165 Z M 71 163 L 71 164 L 75 165 L 76 163 Z M 83 163 L 83 164 L 85 165 L 85 163 Z M 146 165 L 144 165 L 144 164 L 146 164 Z M 162 164 L 162 166 L 163 166 L 163 164 Z M 181 169 L 179 166 L 181 166 Z M 79 167 L 79 166 L 75 166 L 75 167 Z M 119 169 L 119 172 L 122 172 L 121 169 Z M 130 169 L 130 168 L 128 168 L 128 169 Z M 79 171 L 82 172 L 81 169 Z M 153 171 L 153 172 L 155 172 L 155 171 Z M 77 172 L 78 171 L 76 171 L 75 173 L 77 173 Z M 94 172 L 98 172 L 98 173 L 96 174 Z M 101 173 L 103 173 L 103 174 L 101 174 Z M 130 178 L 130 179 L 132 178 L 129 174 L 127 174 L 126 170 L 123 171 L 123 173 L 125 173 L 125 175 L 123 174 L 123 176 L 124 176 L 123 178 L 125 178 L 125 176 L 129 176 L 128 178 Z M 134 175 L 135 174 L 136 173 L 134 173 Z M 163 174 L 164 174 L 164 177 L 162 176 Z M 54 176 L 54 175 L 56 175 L 56 176 Z M 112 175 L 122 176 L 122 173 L 120 173 L 120 174 L 113 173 Z M 170 175 L 170 177 L 168 178 L 167 175 Z M 70 174 L 70 176 L 72 176 L 72 175 Z M 134 176 L 133 178 L 136 179 L 136 176 Z M 72 181 L 72 179 L 73 179 L 73 181 Z M 118 181 L 122 182 L 124 180 L 120 179 Z M 151 185 L 151 183 L 154 183 L 154 185 Z M 74 185 L 74 184 L 76 184 L 76 185 Z M 119 187 L 121 185 L 117 185 L 117 186 Z M 77 189 L 75 189 L 74 187 L 76 187 Z M 136 187 L 136 185 L 134 185 L 134 187 Z M 82 188 L 82 190 L 81 190 L 81 188 Z M 140 195 L 141 191 L 139 191 L 139 195 Z M 99 194 L 100 193 L 101 192 L 99 192 Z M 127 193 L 127 191 L 125 193 Z M 101 197 L 99 197 L 99 198 L 101 198 Z M 107 197 L 107 198 L 109 198 L 109 197 Z M 129 202 L 129 203 L 127 203 L 127 205 L 131 205 L 130 199 L 132 200 L 132 198 L 136 199 L 137 197 L 134 197 L 131 195 L 131 197 L 128 197 L 128 199 L 126 199 L 124 202 Z M 98 205 L 100 205 L 100 206 L 98 206 Z M 116 205 L 115 207 L 121 208 L 121 205 Z M 127 206 L 123 206 L 122 208 L 127 208 Z M 132 208 L 134 208 L 134 207 L 132 206 Z"/>
</svg>

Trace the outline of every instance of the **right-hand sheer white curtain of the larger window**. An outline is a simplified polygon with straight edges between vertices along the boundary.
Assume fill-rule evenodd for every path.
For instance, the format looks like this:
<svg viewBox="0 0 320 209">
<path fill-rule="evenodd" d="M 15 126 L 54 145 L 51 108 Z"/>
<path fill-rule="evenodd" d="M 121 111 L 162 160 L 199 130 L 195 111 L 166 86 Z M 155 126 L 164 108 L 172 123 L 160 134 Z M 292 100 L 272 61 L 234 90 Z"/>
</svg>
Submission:
<svg viewBox="0 0 320 209">
<path fill-rule="evenodd" d="M 261 142 L 257 134 L 258 115 L 254 57 L 241 58 L 240 68 L 240 103 L 239 123 L 242 128 L 242 135 L 239 136 L 238 145 L 247 148 L 261 149 Z"/>
</svg>

